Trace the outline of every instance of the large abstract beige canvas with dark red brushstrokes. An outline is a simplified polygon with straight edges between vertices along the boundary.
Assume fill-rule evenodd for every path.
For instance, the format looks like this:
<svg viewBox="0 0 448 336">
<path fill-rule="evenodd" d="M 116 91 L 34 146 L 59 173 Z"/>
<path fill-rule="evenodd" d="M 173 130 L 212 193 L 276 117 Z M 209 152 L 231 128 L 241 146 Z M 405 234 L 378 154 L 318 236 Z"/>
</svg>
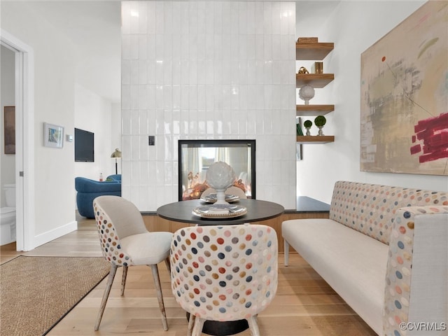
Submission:
<svg viewBox="0 0 448 336">
<path fill-rule="evenodd" d="M 448 175 L 447 22 L 428 1 L 361 55 L 362 171 Z"/>
</svg>

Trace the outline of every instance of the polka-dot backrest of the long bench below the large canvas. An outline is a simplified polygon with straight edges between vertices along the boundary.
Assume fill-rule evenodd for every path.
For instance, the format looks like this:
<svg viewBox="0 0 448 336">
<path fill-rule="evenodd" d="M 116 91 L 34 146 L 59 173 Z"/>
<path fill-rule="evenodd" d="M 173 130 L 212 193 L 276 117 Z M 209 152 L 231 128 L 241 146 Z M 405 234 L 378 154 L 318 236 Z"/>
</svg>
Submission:
<svg viewBox="0 0 448 336">
<path fill-rule="evenodd" d="M 396 211 L 423 205 L 448 205 L 448 193 L 337 181 L 330 219 L 389 244 Z"/>
</svg>

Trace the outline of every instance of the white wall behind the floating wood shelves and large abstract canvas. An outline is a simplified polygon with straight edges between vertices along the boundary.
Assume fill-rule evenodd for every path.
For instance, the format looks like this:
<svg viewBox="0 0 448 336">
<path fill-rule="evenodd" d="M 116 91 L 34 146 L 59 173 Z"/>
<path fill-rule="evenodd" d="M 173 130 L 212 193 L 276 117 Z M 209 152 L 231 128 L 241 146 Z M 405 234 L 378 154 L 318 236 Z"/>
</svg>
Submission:
<svg viewBox="0 0 448 336">
<path fill-rule="evenodd" d="M 323 65 L 325 72 L 335 73 L 335 80 L 324 89 L 316 89 L 311 99 L 311 104 L 335 104 L 323 128 L 324 134 L 335 135 L 335 142 L 303 146 L 304 160 L 297 161 L 298 195 L 330 202 L 337 180 L 448 190 L 447 176 L 360 172 L 360 54 L 424 2 L 341 1 L 335 3 L 332 13 L 315 19 L 318 25 L 314 26 L 297 15 L 297 37 L 318 36 L 321 42 L 335 43 Z M 301 5 L 304 9 L 318 6 L 315 1 L 312 6 L 310 3 L 298 1 L 297 13 Z M 297 99 L 297 104 L 303 102 Z"/>
</svg>

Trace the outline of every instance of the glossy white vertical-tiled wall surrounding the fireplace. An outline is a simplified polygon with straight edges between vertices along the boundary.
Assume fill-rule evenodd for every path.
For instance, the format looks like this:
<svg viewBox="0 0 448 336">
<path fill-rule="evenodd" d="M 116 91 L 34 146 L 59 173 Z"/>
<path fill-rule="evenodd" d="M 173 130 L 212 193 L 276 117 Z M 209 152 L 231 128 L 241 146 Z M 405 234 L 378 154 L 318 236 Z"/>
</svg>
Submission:
<svg viewBox="0 0 448 336">
<path fill-rule="evenodd" d="M 179 139 L 255 139 L 257 198 L 295 209 L 295 2 L 123 1 L 122 15 L 123 197 L 176 202 Z"/>
</svg>

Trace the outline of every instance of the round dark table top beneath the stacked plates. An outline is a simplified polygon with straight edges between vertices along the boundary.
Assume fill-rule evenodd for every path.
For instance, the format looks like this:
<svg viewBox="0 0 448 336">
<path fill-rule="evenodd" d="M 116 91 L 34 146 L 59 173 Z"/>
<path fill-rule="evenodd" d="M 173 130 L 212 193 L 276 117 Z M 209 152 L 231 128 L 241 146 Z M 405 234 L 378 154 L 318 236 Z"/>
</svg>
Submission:
<svg viewBox="0 0 448 336">
<path fill-rule="evenodd" d="M 239 200 L 232 203 L 246 207 L 247 214 L 237 218 L 201 218 L 192 214 L 193 209 L 207 204 L 201 200 L 188 200 L 162 205 L 157 209 L 158 216 L 169 221 L 199 225 L 231 225 L 265 221 L 283 214 L 280 204 L 262 200 Z"/>
</svg>

